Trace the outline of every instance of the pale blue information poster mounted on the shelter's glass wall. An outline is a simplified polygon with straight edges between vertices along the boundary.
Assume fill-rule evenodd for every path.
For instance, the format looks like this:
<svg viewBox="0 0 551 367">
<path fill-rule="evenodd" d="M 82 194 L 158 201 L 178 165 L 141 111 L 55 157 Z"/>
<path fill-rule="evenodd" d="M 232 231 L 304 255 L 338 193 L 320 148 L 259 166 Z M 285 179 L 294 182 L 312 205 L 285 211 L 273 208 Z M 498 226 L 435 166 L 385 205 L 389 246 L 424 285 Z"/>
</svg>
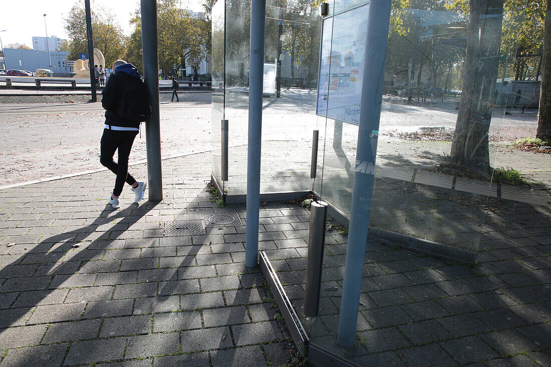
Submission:
<svg viewBox="0 0 551 367">
<path fill-rule="evenodd" d="M 368 7 L 323 21 L 316 113 L 358 125 Z"/>
</svg>

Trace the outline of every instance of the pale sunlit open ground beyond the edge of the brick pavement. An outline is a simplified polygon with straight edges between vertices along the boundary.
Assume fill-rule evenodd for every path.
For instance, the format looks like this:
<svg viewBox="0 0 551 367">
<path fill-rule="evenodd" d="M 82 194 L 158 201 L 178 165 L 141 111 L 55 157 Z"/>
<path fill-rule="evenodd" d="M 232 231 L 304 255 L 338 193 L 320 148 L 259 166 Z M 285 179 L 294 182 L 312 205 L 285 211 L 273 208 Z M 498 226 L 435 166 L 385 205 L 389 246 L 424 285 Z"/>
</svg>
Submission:
<svg viewBox="0 0 551 367">
<path fill-rule="evenodd" d="M 230 121 L 230 146 L 246 144 L 247 95 L 227 97 L 225 118 Z M 170 95 L 163 96 L 160 104 L 163 158 L 212 149 L 211 132 L 218 133 L 222 115 L 213 116 L 210 94 L 196 94 L 179 103 L 168 102 L 168 98 Z M 323 138 L 325 118 L 315 115 L 315 106 L 312 90 L 289 89 L 280 99 L 264 98 L 263 141 L 298 142 L 309 147 L 314 128 L 320 129 Z M 103 114 L 100 103 L 0 104 L 0 186 L 102 168 L 99 142 Z M 452 104 L 428 108 L 385 99 L 380 141 L 404 140 L 407 133 L 422 127 L 451 130 L 456 118 Z M 490 139 L 510 142 L 534 136 L 536 126 L 534 112 L 505 115 L 504 111 L 494 111 Z M 332 125 L 328 125 L 328 139 L 332 134 Z M 357 127 L 345 124 L 343 144 L 355 147 L 356 134 Z M 142 129 L 130 162 L 144 160 L 145 154 Z"/>
</svg>

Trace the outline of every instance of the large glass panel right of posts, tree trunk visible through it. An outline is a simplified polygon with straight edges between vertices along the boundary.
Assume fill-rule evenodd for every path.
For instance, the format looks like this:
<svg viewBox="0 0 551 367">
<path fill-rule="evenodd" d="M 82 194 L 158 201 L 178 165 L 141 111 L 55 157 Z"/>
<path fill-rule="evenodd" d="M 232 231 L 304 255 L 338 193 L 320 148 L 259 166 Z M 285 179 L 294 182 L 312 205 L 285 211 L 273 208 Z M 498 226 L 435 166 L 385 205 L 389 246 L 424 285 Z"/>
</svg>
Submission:
<svg viewBox="0 0 551 367">
<path fill-rule="evenodd" d="M 370 225 L 476 252 L 497 194 L 488 133 L 502 15 L 472 11 L 487 20 L 407 9 L 408 31 L 390 37 Z"/>
</svg>

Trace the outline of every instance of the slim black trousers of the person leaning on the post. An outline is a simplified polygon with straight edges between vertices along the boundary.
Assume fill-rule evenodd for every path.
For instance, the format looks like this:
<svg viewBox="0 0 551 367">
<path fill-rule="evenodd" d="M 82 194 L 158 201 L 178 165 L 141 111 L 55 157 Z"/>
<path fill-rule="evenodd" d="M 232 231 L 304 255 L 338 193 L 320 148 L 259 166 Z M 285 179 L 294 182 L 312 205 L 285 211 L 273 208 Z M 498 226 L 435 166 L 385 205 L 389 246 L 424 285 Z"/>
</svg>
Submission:
<svg viewBox="0 0 551 367">
<path fill-rule="evenodd" d="M 100 163 L 111 170 L 117 179 L 115 180 L 115 188 L 113 195 L 120 196 L 122 187 L 125 181 L 128 185 L 134 185 L 136 180 L 128 174 L 128 156 L 134 143 L 134 138 L 138 134 L 137 131 L 117 131 L 104 129 L 104 134 L 101 137 L 100 148 Z M 113 160 L 115 150 L 118 149 L 117 163 Z"/>
</svg>

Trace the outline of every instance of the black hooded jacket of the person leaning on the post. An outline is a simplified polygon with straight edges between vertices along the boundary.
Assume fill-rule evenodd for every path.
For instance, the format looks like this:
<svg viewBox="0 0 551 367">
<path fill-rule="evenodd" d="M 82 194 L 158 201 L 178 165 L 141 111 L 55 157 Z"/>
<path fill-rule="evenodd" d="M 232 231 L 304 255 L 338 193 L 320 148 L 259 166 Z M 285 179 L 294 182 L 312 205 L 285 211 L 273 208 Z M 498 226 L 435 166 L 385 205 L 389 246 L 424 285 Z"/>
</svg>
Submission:
<svg viewBox="0 0 551 367">
<path fill-rule="evenodd" d="M 132 79 L 140 79 L 138 69 L 131 63 L 119 65 L 115 73 L 107 80 L 104 90 L 101 92 L 101 105 L 105 111 L 105 125 L 120 127 L 139 128 L 139 122 L 127 120 L 117 114 L 117 105 L 120 103 L 120 96 L 128 88 Z"/>
</svg>

